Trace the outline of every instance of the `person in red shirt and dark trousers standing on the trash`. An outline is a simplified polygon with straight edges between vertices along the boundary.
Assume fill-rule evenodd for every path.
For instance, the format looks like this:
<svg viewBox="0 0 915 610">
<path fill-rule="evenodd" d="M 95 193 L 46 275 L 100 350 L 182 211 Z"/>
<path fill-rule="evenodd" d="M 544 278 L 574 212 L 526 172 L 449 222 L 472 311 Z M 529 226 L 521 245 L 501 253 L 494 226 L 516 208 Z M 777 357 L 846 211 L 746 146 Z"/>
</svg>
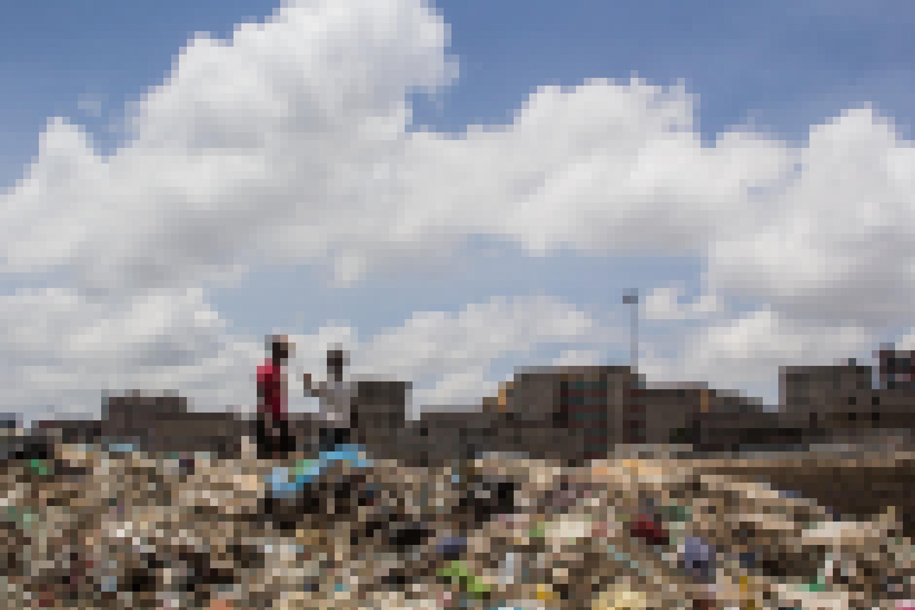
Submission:
<svg viewBox="0 0 915 610">
<path fill-rule="evenodd" d="M 295 346 L 285 335 L 267 337 L 270 358 L 257 368 L 257 454 L 284 457 L 294 449 L 286 417 L 286 361 Z"/>
</svg>

